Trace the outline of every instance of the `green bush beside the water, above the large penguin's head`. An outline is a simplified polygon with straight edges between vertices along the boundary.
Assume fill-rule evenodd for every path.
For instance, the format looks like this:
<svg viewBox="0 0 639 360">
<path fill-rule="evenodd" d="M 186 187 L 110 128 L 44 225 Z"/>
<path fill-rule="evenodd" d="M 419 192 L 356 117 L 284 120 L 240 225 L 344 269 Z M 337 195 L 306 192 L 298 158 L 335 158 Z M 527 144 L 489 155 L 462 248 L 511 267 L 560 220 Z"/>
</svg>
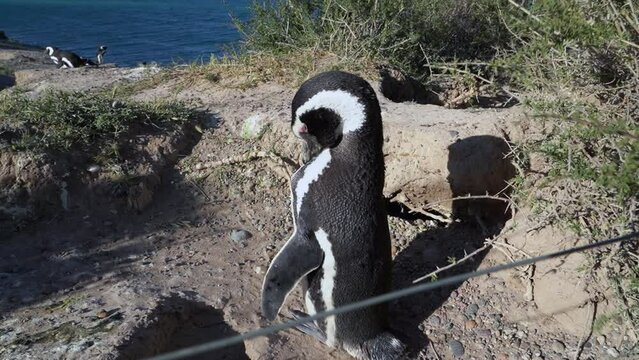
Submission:
<svg viewBox="0 0 639 360">
<path fill-rule="evenodd" d="M 314 49 L 340 58 L 423 71 L 433 59 L 490 58 L 510 34 L 494 0 L 314 0 L 254 2 L 239 24 L 249 50 Z"/>
</svg>

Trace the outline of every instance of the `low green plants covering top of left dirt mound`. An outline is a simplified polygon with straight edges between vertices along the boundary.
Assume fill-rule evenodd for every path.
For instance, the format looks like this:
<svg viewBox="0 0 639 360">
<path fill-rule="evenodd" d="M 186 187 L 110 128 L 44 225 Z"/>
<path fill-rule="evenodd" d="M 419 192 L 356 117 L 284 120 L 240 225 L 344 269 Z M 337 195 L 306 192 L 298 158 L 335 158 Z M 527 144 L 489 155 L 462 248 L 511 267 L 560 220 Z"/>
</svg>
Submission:
<svg viewBox="0 0 639 360">
<path fill-rule="evenodd" d="M 0 95 L 0 146 L 14 151 L 93 151 L 117 154 L 117 142 L 141 128 L 170 130 L 194 115 L 178 102 L 133 103 L 104 94 L 50 91 L 32 99 Z"/>
</svg>

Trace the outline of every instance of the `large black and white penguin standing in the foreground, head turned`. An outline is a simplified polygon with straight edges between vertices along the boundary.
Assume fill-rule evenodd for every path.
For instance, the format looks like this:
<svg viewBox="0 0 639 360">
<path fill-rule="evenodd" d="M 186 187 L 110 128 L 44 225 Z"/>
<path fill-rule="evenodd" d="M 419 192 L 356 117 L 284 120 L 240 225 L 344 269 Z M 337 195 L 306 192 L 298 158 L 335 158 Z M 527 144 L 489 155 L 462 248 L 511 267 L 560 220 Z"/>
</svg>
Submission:
<svg viewBox="0 0 639 360">
<path fill-rule="evenodd" d="M 326 72 L 302 84 L 292 105 L 292 129 L 310 160 L 291 178 L 293 235 L 264 278 L 262 312 L 270 320 L 298 282 L 311 315 L 391 289 L 382 118 L 373 88 L 353 74 Z M 405 350 L 388 331 L 385 304 L 299 329 L 357 359 L 397 359 Z"/>
</svg>

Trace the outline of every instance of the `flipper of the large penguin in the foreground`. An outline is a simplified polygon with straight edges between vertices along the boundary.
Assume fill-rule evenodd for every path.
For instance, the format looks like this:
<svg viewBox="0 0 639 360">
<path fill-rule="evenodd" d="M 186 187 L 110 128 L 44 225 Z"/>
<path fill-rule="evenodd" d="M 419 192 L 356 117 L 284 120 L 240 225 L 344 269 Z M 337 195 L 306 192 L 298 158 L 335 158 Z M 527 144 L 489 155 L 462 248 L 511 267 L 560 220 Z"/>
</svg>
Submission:
<svg viewBox="0 0 639 360">
<path fill-rule="evenodd" d="M 262 285 L 262 313 L 273 320 L 295 285 L 324 260 L 313 233 L 297 231 L 275 255 Z"/>
</svg>

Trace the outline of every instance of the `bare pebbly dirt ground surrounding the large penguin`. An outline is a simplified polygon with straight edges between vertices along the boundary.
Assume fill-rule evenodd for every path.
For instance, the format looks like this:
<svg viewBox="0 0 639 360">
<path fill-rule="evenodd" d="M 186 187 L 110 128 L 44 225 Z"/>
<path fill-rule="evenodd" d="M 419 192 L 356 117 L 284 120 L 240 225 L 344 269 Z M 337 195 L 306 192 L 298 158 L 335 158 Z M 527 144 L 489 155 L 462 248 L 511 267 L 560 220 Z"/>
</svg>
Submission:
<svg viewBox="0 0 639 360">
<path fill-rule="evenodd" d="M 71 70 L 64 79 L 84 90 L 111 84 L 105 76 L 128 76 L 115 73 Z M 41 91 L 46 78 L 23 85 Z M 56 79 L 60 85 L 62 77 Z M 292 231 L 291 167 L 269 154 L 298 160 L 299 144 L 287 130 L 294 92 L 274 83 L 238 90 L 203 80 L 136 95 L 193 101 L 206 114 L 201 139 L 165 169 L 141 211 L 99 198 L 87 206 L 71 189 L 68 210 L 2 236 L 0 358 L 139 359 L 269 325 L 259 311 L 261 282 Z M 526 209 L 508 219 L 503 209 L 496 215 L 494 203 L 450 200 L 505 187 L 515 170 L 504 165 L 505 141 L 495 139 L 527 136 L 521 109 L 451 110 L 379 96 L 387 195 L 420 209 L 437 202 L 423 214 L 394 211 L 390 218 L 396 288 L 486 239 L 496 245 L 438 277 L 580 241 L 539 227 Z M 247 153 L 254 158 L 244 161 Z M 450 216 L 460 220 L 442 221 Z M 393 330 L 411 359 L 573 359 L 578 352 L 580 359 L 621 358 L 632 329 L 612 324 L 589 335 L 593 315 L 614 304 L 580 271 L 584 262 L 571 256 L 394 301 Z M 303 308 L 299 295 L 292 294 L 284 315 Z M 196 358 L 349 357 L 289 330 Z"/>
</svg>

